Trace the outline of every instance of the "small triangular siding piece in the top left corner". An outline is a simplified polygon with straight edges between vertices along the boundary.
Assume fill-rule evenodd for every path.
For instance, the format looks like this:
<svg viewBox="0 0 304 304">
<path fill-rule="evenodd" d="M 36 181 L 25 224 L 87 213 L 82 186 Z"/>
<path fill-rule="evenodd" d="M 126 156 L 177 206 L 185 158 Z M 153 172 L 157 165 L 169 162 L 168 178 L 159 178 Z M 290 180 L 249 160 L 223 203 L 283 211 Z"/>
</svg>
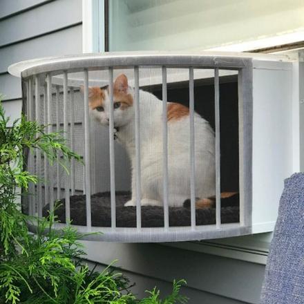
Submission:
<svg viewBox="0 0 304 304">
<path fill-rule="evenodd" d="M 1 0 L 0 19 L 54 0 Z"/>
</svg>

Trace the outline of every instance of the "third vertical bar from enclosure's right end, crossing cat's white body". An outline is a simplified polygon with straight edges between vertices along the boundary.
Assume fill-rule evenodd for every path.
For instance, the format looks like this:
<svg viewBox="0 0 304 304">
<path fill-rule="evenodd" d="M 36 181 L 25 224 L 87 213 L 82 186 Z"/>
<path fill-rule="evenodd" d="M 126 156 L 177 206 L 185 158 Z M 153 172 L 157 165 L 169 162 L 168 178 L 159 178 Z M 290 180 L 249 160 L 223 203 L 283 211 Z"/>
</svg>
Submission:
<svg viewBox="0 0 304 304">
<path fill-rule="evenodd" d="M 167 68 L 162 67 L 162 191 L 164 201 L 164 229 L 169 228 L 168 202 L 168 126 L 167 126 Z"/>
</svg>

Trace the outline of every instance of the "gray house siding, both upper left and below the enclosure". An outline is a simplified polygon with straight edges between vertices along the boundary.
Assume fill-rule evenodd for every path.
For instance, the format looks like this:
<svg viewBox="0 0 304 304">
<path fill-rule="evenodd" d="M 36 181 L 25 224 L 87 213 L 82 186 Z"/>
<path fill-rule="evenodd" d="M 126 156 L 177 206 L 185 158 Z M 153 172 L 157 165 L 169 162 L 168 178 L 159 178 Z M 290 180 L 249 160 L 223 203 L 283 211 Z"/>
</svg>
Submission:
<svg viewBox="0 0 304 304">
<path fill-rule="evenodd" d="M 81 53 L 82 1 L 2 0 L 0 28 L 0 93 L 7 115 L 15 119 L 21 113 L 21 82 L 8 74 L 8 66 L 37 57 Z M 84 242 L 90 265 L 98 263 L 102 269 L 117 258 L 117 267 L 136 282 L 132 290 L 140 297 L 155 285 L 169 293 L 173 278 L 185 278 L 187 287 L 182 293 L 189 296 L 189 303 L 258 303 L 264 265 L 188 250 L 187 243 L 183 244 L 186 249 Z"/>
</svg>

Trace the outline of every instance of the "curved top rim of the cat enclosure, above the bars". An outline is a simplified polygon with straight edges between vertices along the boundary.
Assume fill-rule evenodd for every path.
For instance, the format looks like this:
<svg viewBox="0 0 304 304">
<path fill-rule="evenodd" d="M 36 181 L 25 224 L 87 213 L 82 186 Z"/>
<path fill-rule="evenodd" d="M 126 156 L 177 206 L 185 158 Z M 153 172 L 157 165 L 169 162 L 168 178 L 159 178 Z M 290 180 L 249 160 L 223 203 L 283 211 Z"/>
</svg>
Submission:
<svg viewBox="0 0 304 304">
<path fill-rule="evenodd" d="M 100 70 L 108 67 L 133 68 L 134 66 L 167 66 L 170 68 L 220 68 L 221 70 L 240 70 L 252 66 L 251 57 L 231 57 L 214 55 L 75 55 L 22 61 L 8 68 L 12 75 L 26 78 L 35 74 L 52 73 L 56 75 L 68 71 L 75 73 L 87 70 Z"/>
</svg>

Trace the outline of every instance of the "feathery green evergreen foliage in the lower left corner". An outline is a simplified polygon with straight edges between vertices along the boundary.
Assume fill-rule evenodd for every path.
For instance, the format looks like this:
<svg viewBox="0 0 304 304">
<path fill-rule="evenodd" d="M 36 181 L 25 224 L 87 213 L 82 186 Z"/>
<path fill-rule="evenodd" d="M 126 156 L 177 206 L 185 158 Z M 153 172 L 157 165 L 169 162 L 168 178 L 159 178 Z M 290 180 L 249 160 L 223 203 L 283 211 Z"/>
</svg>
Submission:
<svg viewBox="0 0 304 304">
<path fill-rule="evenodd" d="M 0 102 L 0 304 L 186 303 L 180 296 L 184 281 L 174 282 L 172 294 L 163 301 L 156 288 L 138 300 L 129 290 L 128 278 L 111 265 L 102 272 L 88 269 L 79 243 L 83 236 L 71 225 L 53 229 L 54 211 L 46 218 L 21 212 L 17 198 L 30 183 L 37 183 L 37 176 L 23 167 L 26 150 L 40 149 L 50 162 L 60 153 L 62 166 L 72 158 L 80 161 L 61 133 L 48 134 L 45 129 L 24 116 L 9 126 Z M 35 234 L 28 231 L 29 222 L 37 227 Z"/>
</svg>

